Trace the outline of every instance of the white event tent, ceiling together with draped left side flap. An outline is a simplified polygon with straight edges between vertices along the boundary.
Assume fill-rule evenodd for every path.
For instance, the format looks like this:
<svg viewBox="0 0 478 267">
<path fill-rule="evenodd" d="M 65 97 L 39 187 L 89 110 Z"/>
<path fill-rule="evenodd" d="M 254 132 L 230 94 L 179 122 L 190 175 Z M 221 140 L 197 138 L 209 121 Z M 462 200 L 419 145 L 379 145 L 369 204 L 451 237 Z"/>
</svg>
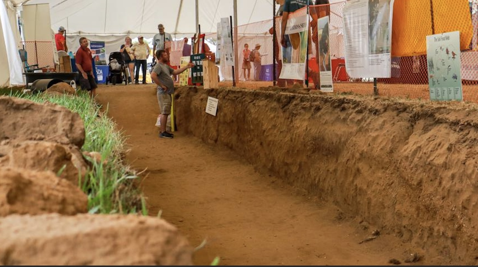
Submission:
<svg viewBox="0 0 478 267">
<path fill-rule="evenodd" d="M 236 2 L 238 25 L 272 19 L 274 0 Z M 0 60 L 9 68 L 0 74 L 0 86 L 24 84 L 17 22 L 24 41 L 52 41 L 64 26 L 70 51 L 79 47 L 79 36 L 105 41 L 108 50 L 126 35 L 152 38 L 159 23 L 176 39 L 193 36 L 197 23 L 201 33 L 216 33 L 220 19 L 233 15 L 234 0 L 1 0 Z"/>
</svg>

